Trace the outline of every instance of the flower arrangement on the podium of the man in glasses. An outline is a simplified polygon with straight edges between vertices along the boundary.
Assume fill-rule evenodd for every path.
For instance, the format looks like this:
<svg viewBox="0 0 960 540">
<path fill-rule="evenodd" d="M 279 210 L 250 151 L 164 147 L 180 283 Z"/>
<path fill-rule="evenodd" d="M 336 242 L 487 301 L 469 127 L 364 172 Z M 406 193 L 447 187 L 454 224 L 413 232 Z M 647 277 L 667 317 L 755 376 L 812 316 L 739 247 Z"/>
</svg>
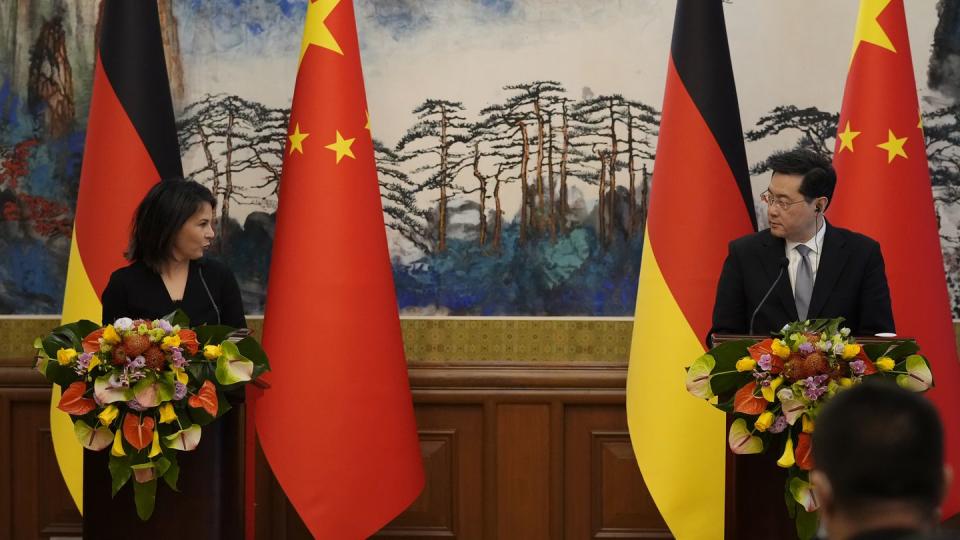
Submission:
<svg viewBox="0 0 960 540">
<path fill-rule="evenodd" d="M 914 341 L 861 345 L 842 321 L 795 322 L 777 337 L 729 341 L 687 368 L 687 391 L 733 415 L 728 434 L 733 453 L 773 449 L 779 456 L 777 465 L 787 469 L 787 511 L 803 539 L 813 538 L 818 527 L 808 471 L 814 465 L 811 434 L 823 404 L 866 377 L 892 378 L 916 392 L 933 386 L 930 365 Z"/>
</svg>

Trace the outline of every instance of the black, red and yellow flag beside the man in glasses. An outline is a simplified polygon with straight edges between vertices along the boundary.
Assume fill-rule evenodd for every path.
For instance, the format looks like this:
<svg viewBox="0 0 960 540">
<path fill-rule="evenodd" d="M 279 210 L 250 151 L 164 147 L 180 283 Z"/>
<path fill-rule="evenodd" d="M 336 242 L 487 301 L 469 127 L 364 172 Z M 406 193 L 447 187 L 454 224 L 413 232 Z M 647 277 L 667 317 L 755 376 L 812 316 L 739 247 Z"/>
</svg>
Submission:
<svg viewBox="0 0 960 540">
<path fill-rule="evenodd" d="M 756 217 L 721 0 L 679 0 L 627 377 L 640 471 L 677 538 L 721 538 L 724 414 L 684 387 L 727 243 Z"/>
</svg>

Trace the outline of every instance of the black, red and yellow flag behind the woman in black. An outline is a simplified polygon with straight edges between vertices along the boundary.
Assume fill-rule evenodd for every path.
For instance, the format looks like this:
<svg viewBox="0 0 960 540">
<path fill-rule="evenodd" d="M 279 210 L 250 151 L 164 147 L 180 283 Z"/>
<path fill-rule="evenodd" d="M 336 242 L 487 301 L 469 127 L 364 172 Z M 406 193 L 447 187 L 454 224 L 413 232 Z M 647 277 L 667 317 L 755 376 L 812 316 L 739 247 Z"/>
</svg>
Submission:
<svg viewBox="0 0 960 540">
<path fill-rule="evenodd" d="M 100 295 L 123 258 L 134 210 L 154 183 L 182 176 L 170 83 L 155 2 L 106 0 L 100 19 L 93 93 L 67 266 L 63 322 L 99 321 Z M 83 512 L 83 448 L 66 413 L 50 430 L 70 490 Z"/>
</svg>

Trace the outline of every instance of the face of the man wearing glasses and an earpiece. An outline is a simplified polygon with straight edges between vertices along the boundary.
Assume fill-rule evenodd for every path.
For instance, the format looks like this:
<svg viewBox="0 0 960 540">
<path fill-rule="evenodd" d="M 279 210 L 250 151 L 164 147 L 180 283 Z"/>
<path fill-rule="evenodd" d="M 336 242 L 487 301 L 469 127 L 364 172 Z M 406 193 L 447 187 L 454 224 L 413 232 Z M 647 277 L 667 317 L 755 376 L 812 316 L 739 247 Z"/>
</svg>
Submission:
<svg viewBox="0 0 960 540">
<path fill-rule="evenodd" d="M 799 174 L 773 173 L 770 178 L 769 196 L 780 204 L 767 205 L 767 218 L 770 221 L 770 234 L 792 240 L 806 242 L 817 232 L 817 201 L 807 202 L 800 194 Z"/>
</svg>

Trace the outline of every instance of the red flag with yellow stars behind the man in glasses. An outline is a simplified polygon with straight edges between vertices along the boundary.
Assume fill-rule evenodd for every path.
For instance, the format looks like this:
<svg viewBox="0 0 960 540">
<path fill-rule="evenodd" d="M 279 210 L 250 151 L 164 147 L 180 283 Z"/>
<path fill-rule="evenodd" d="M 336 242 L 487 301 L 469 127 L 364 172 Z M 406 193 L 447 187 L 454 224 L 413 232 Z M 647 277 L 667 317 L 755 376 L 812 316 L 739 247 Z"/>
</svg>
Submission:
<svg viewBox="0 0 960 540">
<path fill-rule="evenodd" d="M 936 386 L 926 395 L 946 429 L 947 461 L 960 470 L 960 364 L 934 215 L 903 0 L 863 0 L 834 165 L 828 217 L 878 242 L 897 333 L 915 337 Z M 954 482 L 943 508 L 960 510 Z"/>
</svg>

